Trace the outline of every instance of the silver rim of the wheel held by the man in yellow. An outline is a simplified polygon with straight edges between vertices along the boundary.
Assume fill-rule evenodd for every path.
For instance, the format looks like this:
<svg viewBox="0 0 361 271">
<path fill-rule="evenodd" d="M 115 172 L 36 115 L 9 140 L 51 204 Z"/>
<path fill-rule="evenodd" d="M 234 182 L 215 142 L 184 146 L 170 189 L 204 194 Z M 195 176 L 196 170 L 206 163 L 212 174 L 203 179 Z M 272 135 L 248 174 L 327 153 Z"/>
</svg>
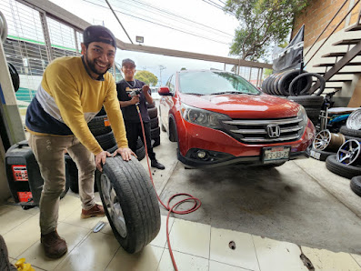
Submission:
<svg viewBox="0 0 361 271">
<path fill-rule="evenodd" d="M 125 217 L 123 215 L 122 206 L 120 205 L 118 196 L 115 193 L 115 188 L 110 182 L 108 176 L 106 176 L 105 174 L 102 174 L 100 178 L 100 183 L 107 213 L 109 214 L 110 219 L 112 220 L 112 223 L 115 226 L 118 234 L 125 238 Z"/>
</svg>

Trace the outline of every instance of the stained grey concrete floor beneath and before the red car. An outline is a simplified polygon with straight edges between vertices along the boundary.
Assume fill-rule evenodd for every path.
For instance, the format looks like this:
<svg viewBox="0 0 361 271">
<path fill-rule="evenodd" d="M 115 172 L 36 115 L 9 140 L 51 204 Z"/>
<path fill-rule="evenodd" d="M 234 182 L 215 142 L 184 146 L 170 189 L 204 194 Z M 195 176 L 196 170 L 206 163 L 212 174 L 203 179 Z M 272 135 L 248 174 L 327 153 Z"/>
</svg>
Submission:
<svg viewBox="0 0 361 271">
<path fill-rule="evenodd" d="M 175 148 L 162 132 L 155 154 L 166 168 L 152 168 L 157 193 L 165 204 L 174 194 L 188 193 L 202 206 L 174 217 L 299 246 L 361 254 L 361 198 L 351 191 L 348 179 L 329 172 L 324 162 L 309 158 L 271 169 L 185 169 L 176 160 Z M 142 164 L 146 166 L 145 159 Z M 189 206 L 193 204 L 180 209 Z M 161 207 L 161 213 L 167 212 Z"/>
</svg>

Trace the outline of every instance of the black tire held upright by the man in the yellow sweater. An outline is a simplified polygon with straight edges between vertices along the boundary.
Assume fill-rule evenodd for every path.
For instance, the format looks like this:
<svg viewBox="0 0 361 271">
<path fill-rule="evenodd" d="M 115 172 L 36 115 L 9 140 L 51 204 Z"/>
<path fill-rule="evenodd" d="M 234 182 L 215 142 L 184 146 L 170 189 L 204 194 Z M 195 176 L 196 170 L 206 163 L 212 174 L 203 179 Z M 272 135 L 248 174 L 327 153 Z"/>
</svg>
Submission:
<svg viewBox="0 0 361 271">
<path fill-rule="evenodd" d="M 161 221 L 155 189 L 144 167 L 136 159 L 107 158 L 96 182 L 115 238 L 126 252 L 139 252 L 158 234 Z M 112 200 L 110 193 L 115 194 Z M 112 207 L 122 211 L 123 220 Z"/>
</svg>

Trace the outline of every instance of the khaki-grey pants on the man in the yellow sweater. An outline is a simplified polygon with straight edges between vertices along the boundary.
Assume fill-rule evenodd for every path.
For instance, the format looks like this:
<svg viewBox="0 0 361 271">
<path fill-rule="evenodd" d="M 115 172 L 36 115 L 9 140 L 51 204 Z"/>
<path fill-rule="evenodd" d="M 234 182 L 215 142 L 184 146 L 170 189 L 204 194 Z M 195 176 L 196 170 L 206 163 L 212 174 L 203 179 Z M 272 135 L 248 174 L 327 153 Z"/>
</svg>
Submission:
<svg viewBox="0 0 361 271">
<path fill-rule="evenodd" d="M 40 230 L 46 235 L 55 231 L 57 226 L 60 194 L 65 189 L 65 150 L 78 168 L 79 196 L 85 210 L 95 206 L 95 157 L 74 135 L 30 135 L 29 146 L 44 179 L 40 197 Z"/>
</svg>

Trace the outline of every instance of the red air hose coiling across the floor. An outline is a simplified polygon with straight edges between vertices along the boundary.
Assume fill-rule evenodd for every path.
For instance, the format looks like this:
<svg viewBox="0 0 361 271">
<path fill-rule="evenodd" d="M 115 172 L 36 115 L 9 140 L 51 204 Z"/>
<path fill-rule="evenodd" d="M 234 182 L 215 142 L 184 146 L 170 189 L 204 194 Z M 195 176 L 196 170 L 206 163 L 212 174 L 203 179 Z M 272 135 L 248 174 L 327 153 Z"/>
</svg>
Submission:
<svg viewBox="0 0 361 271">
<path fill-rule="evenodd" d="M 148 164 L 149 176 L 150 176 L 150 179 L 152 181 L 153 187 L 155 187 L 155 183 L 153 182 L 152 172 L 151 172 L 151 169 L 150 169 L 150 166 L 149 166 L 148 150 L 147 150 L 147 147 L 146 147 L 146 139 L 145 139 L 145 126 L 143 125 L 142 115 L 140 114 L 138 105 L 136 105 L 136 110 L 138 111 L 140 124 L 142 125 L 143 140 L 144 140 L 143 142 L 145 142 L 145 158 L 146 158 L 146 163 Z M 173 256 L 172 247 L 170 246 L 170 241 L 169 241 L 169 227 L 168 227 L 169 216 L 170 216 L 171 213 L 175 213 L 177 215 L 186 215 L 186 214 L 195 212 L 202 205 L 202 203 L 198 198 L 196 198 L 196 197 L 194 197 L 192 195 L 189 195 L 189 194 L 186 194 L 186 193 L 180 193 L 180 194 L 175 194 L 175 195 L 169 197 L 168 202 L 167 202 L 167 204 L 165 206 L 165 204 L 159 198 L 158 193 L 156 193 L 156 190 L 155 190 L 155 194 L 156 194 L 156 197 L 158 198 L 158 201 L 160 202 L 160 204 L 162 206 L 164 206 L 165 209 L 168 211 L 168 215 L 166 216 L 166 243 L 168 243 L 169 255 L 170 255 L 171 259 L 172 259 L 173 267 L 175 268 L 175 271 L 178 271 L 178 267 L 175 264 L 175 257 Z M 178 201 L 177 203 L 175 203 L 175 205 L 170 207 L 169 204 L 175 198 L 175 196 L 188 196 L 188 197 L 183 199 L 183 200 Z M 189 209 L 187 209 L 185 211 L 175 211 L 174 210 L 175 207 L 180 206 L 181 204 L 183 204 L 185 202 L 188 202 L 188 201 L 191 201 L 191 200 L 193 200 L 195 202 L 195 205 L 193 207 L 191 207 L 191 208 L 189 208 Z"/>
</svg>

